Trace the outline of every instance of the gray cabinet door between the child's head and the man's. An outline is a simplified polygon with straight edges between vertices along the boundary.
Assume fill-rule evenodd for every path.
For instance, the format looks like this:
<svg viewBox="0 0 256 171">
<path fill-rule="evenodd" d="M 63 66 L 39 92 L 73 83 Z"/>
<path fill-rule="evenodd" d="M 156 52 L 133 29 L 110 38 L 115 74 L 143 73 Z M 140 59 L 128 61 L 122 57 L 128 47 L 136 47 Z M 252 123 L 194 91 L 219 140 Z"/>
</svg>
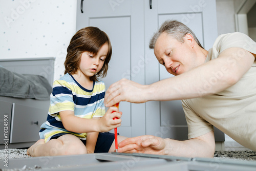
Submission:
<svg viewBox="0 0 256 171">
<path fill-rule="evenodd" d="M 102 80 L 106 89 L 127 78 L 144 84 L 144 11 L 143 1 L 77 1 L 77 30 L 94 26 L 109 35 L 112 57 L 108 74 Z M 122 136 L 145 134 L 145 104 L 120 102 L 122 125 L 117 131 Z"/>
</svg>

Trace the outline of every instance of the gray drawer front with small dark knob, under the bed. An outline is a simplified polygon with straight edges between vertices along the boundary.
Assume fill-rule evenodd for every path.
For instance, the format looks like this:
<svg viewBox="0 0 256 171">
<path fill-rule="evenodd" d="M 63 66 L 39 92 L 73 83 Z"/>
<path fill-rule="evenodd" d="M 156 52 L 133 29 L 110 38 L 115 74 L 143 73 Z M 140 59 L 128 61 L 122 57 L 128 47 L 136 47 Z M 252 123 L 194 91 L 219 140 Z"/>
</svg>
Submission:
<svg viewBox="0 0 256 171">
<path fill-rule="evenodd" d="M 37 106 L 12 104 L 10 143 L 32 142 L 39 139 L 42 123 L 46 121 L 49 101 L 39 101 Z"/>
</svg>

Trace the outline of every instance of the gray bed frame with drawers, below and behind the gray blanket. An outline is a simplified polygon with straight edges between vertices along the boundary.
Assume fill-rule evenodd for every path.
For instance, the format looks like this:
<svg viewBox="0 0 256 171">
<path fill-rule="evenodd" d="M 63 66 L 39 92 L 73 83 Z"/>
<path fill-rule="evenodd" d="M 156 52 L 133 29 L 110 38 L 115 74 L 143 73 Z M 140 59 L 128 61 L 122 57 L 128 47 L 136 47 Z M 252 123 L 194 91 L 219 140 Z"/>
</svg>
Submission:
<svg viewBox="0 0 256 171">
<path fill-rule="evenodd" d="M 53 57 L 1 59 L 0 66 L 19 74 L 41 75 L 53 83 Z M 0 96 L 0 149 L 27 148 L 39 139 L 40 125 L 46 121 L 49 100 Z"/>
</svg>

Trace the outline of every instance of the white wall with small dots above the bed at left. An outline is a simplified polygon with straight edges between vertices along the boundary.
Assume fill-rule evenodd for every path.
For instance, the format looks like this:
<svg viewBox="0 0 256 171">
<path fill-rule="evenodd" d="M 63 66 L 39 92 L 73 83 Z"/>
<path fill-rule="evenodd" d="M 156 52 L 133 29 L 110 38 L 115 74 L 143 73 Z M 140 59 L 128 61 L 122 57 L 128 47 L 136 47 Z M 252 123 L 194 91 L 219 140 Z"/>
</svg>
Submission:
<svg viewBox="0 0 256 171">
<path fill-rule="evenodd" d="M 0 59 L 55 57 L 63 75 L 76 30 L 76 0 L 0 0 Z"/>
</svg>

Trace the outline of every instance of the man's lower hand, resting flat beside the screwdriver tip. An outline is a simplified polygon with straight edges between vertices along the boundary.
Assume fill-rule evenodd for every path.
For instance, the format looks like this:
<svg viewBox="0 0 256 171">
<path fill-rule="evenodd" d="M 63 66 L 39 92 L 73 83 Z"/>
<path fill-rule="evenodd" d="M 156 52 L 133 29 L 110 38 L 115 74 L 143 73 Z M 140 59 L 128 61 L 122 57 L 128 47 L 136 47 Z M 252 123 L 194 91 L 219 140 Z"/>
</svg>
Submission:
<svg viewBox="0 0 256 171">
<path fill-rule="evenodd" d="M 127 138 L 118 144 L 120 153 L 146 153 L 166 155 L 165 139 L 153 135 Z"/>
</svg>

